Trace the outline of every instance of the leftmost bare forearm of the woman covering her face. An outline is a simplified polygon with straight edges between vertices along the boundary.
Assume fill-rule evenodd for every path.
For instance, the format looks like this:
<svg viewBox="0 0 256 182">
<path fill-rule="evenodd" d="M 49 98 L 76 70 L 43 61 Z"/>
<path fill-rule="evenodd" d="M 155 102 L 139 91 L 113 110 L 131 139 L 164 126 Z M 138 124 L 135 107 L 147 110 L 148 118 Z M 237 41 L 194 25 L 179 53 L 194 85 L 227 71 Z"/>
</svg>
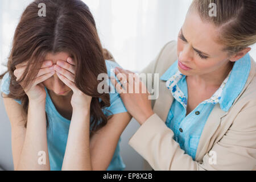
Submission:
<svg viewBox="0 0 256 182">
<path fill-rule="evenodd" d="M 20 154 L 18 170 L 50 169 L 45 107 L 45 102 L 31 101 L 28 105 L 26 137 Z"/>
</svg>

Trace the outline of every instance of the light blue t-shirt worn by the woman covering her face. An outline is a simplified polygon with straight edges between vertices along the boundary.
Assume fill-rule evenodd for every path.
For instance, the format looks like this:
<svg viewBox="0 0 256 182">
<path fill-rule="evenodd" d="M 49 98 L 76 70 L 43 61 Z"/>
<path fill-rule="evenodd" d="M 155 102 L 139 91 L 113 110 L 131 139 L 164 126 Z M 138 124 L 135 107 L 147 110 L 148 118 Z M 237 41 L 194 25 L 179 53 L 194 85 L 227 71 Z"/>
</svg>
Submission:
<svg viewBox="0 0 256 182">
<path fill-rule="evenodd" d="M 108 76 L 110 77 L 110 70 L 114 69 L 115 67 L 120 67 L 117 63 L 113 61 L 106 60 L 106 67 L 108 70 Z M 113 74 L 113 73 L 112 73 Z M 6 95 L 9 94 L 9 84 L 10 84 L 10 77 L 9 73 L 3 77 L 2 84 L 1 84 L 1 92 L 5 93 Z M 109 81 L 108 84 L 110 86 L 113 85 Z M 46 113 L 48 118 L 48 128 L 47 128 L 47 143 L 48 143 L 48 152 L 49 152 L 49 162 L 52 171 L 60 171 L 63 163 L 63 158 L 65 154 L 65 148 L 67 145 L 68 139 L 68 131 L 69 125 L 71 123 L 70 120 L 64 118 L 62 115 L 58 113 L 56 110 L 51 97 L 45 88 L 47 97 L 46 97 Z M 113 89 L 114 90 L 114 89 Z M 110 106 L 106 107 L 112 114 L 118 113 L 125 113 L 127 112 L 123 102 L 117 92 L 114 93 L 110 92 Z M 21 102 L 16 100 L 19 104 Z M 106 109 L 102 109 L 106 116 L 110 115 Z M 108 167 L 108 171 L 122 171 L 125 169 L 125 164 L 121 158 L 120 153 L 120 146 L 119 143 L 121 142 L 121 138 L 119 138 L 117 148 L 115 148 L 114 156 L 110 165 Z"/>
</svg>

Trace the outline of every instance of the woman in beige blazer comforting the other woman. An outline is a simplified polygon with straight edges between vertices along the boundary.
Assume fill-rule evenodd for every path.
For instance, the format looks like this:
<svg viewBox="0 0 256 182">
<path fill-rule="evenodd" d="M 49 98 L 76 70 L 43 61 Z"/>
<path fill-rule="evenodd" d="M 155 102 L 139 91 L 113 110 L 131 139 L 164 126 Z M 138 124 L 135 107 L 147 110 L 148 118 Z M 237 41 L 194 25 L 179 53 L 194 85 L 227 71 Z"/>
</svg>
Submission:
<svg viewBox="0 0 256 182">
<path fill-rule="evenodd" d="M 139 81 L 121 80 L 118 92 L 141 124 L 129 144 L 147 169 L 256 169 L 255 10 L 255 0 L 194 0 L 177 42 L 142 71 L 159 74 L 150 82 L 159 97 L 126 94 Z"/>
</svg>

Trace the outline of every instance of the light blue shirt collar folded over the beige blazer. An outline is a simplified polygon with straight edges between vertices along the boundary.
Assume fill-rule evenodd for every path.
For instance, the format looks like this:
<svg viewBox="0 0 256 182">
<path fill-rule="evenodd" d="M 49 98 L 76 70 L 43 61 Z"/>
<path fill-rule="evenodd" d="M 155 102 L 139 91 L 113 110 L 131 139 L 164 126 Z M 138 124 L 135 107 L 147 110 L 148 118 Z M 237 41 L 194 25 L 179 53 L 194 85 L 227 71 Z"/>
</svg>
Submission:
<svg viewBox="0 0 256 182">
<path fill-rule="evenodd" d="M 178 74 L 179 69 L 177 67 L 178 61 L 176 60 L 174 64 L 160 77 L 160 80 L 168 81 L 172 76 Z M 222 90 L 220 101 L 220 107 L 224 111 L 228 111 L 233 105 L 234 100 L 239 96 L 242 89 L 244 88 L 247 78 L 249 76 L 251 69 L 250 55 L 247 53 L 240 60 L 236 61 L 232 71 L 228 77 L 228 81 Z"/>
</svg>

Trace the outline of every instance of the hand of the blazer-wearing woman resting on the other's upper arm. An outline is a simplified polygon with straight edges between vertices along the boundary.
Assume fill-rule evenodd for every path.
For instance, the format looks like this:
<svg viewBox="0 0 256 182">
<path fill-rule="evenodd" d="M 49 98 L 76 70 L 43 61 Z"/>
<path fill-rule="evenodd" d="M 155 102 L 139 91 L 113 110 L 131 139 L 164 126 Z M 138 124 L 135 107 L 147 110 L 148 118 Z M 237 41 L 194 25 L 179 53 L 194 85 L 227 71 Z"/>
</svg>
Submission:
<svg viewBox="0 0 256 182">
<path fill-rule="evenodd" d="M 117 92 L 120 94 L 123 104 L 125 104 L 129 113 L 142 125 L 151 117 L 151 115 L 154 114 L 151 107 L 151 100 L 148 100 L 148 96 L 150 94 L 147 92 L 146 85 L 141 82 L 135 73 L 125 71 L 121 68 L 115 69 L 115 75 L 121 82 L 122 86 L 117 83 L 115 78 L 111 78 L 111 81 Z M 133 81 L 131 81 L 131 79 L 133 79 Z M 139 85 L 139 93 L 135 93 L 135 85 Z M 129 92 L 129 88 L 133 88 L 133 90 L 130 89 L 133 93 Z M 142 90 L 145 90 L 146 93 L 142 93 Z"/>
</svg>

